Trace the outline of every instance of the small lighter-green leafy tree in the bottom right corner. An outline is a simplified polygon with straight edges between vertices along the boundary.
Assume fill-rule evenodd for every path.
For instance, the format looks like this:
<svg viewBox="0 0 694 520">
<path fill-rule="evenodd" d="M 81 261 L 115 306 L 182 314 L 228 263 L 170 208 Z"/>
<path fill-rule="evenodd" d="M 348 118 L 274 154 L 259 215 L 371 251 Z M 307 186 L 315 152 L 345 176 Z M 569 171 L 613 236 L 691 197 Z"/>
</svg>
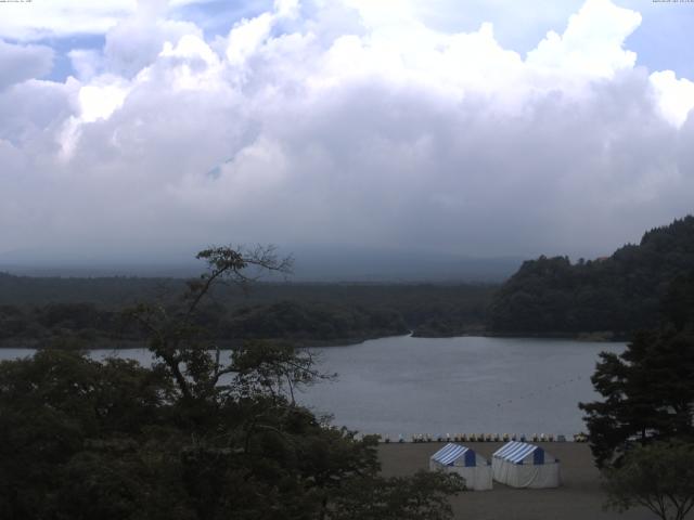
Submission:
<svg viewBox="0 0 694 520">
<path fill-rule="evenodd" d="M 694 507 L 694 444 L 635 446 L 619 468 L 604 472 L 608 507 L 646 507 L 661 520 L 683 520 Z"/>
</svg>

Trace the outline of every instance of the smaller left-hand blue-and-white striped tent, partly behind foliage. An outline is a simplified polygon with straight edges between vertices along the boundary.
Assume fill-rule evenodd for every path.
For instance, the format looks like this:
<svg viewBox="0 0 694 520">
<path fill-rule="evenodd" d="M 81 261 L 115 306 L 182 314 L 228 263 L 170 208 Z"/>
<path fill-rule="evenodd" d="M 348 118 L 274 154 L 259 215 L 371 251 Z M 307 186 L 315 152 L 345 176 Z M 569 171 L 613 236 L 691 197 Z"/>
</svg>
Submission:
<svg viewBox="0 0 694 520">
<path fill-rule="evenodd" d="M 429 457 L 429 469 L 460 474 L 468 490 L 491 490 L 491 465 L 467 446 L 449 442 Z"/>
</svg>

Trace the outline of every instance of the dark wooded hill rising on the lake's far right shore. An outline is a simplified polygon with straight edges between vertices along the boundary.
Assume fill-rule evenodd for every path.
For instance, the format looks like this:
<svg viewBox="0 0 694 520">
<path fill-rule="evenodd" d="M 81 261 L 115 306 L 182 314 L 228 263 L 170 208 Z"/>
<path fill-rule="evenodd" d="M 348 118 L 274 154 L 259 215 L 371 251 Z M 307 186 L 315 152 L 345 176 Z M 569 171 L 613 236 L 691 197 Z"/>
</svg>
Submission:
<svg viewBox="0 0 694 520">
<path fill-rule="evenodd" d="M 524 262 L 489 310 L 497 333 L 630 335 L 658 323 L 658 301 L 670 282 L 694 269 L 694 217 L 643 235 L 605 259 Z"/>
</svg>

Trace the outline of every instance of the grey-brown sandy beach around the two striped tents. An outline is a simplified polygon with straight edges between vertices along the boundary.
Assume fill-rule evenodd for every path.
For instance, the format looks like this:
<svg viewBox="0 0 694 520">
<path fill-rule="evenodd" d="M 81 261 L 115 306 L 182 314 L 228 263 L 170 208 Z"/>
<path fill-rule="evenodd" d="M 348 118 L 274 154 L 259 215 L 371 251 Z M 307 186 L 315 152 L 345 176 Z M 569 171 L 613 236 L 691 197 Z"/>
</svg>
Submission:
<svg viewBox="0 0 694 520">
<path fill-rule="evenodd" d="M 646 509 L 625 514 L 605 511 L 600 473 L 587 444 L 538 443 L 561 460 L 562 486 L 552 490 L 515 490 L 498 482 L 492 491 L 464 492 L 451 498 L 457 519 L 465 520 L 653 520 Z M 382 444 L 380 457 L 385 476 L 406 476 L 428 468 L 428 457 L 444 443 Z M 465 443 L 490 457 L 502 443 Z M 689 517 L 687 517 L 689 518 Z M 694 516 L 692 517 L 694 518 Z"/>
</svg>

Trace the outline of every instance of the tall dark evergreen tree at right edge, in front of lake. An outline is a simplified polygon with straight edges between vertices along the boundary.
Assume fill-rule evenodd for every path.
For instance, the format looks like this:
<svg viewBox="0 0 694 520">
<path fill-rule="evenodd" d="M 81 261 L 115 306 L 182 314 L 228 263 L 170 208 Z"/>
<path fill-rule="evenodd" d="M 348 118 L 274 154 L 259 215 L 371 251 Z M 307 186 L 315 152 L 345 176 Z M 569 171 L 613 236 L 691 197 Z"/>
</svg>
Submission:
<svg viewBox="0 0 694 520">
<path fill-rule="evenodd" d="M 673 281 L 658 328 L 619 355 L 601 354 L 592 377 L 603 401 L 580 404 L 599 467 L 619 464 L 631 441 L 694 441 L 694 272 Z"/>
</svg>

